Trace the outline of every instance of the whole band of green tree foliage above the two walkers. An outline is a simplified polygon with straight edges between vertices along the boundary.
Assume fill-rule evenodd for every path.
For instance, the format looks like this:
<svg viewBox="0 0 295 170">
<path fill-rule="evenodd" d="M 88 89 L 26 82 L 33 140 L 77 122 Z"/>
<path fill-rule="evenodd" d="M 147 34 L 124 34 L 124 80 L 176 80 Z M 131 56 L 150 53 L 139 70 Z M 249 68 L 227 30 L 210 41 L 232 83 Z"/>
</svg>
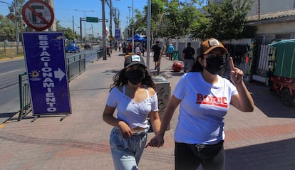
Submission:
<svg viewBox="0 0 295 170">
<path fill-rule="evenodd" d="M 152 0 L 152 38 L 194 35 L 196 38 L 216 37 L 221 40 L 252 38 L 256 28 L 245 26 L 245 17 L 254 0 L 224 0 L 220 4 L 204 4 L 205 0 Z M 197 8 L 199 7 L 199 9 Z M 135 33 L 144 33 L 148 6 L 144 15 L 137 12 Z M 140 32 L 141 31 L 141 32 Z"/>
</svg>

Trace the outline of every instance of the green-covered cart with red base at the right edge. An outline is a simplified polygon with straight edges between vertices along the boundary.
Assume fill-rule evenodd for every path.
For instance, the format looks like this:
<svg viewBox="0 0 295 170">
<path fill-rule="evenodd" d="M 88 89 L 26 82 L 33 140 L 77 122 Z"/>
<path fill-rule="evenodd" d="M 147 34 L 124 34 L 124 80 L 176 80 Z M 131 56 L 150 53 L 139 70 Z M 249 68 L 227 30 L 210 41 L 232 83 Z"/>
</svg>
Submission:
<svg viewBox="0 0 295 170">
<path fill-rule="evenodd" d="M 269 44 L 275 47 L 274 72 L 271 74 L 271 90 L 279 92 L 284 105 L 295 102 L 295 39 Z"/>
</svg>

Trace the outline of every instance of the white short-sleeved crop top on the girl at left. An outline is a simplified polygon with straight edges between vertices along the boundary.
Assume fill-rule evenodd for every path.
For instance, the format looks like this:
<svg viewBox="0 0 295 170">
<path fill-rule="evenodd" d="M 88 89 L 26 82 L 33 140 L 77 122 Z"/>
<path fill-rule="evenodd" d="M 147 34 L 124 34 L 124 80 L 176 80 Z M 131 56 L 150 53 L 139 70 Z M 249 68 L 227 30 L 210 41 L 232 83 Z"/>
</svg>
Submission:
<svg viewBox="0 0 295 170">
<path fill-rule="evenodd" d="M 106 105 L 109 107 L 116 107 L 118 110 L 118 119 L 126 122 L 131 129 L 135 127 L 148 128 L 148 115 L 151 111 L 158 111 L 157 107 L 157 94 L 150 95 L 142 102 L 135 102 L 133 99 L 125 95 L 125 87 L 123 92 L 114 87 L 110 90 Z"/>
</svg>

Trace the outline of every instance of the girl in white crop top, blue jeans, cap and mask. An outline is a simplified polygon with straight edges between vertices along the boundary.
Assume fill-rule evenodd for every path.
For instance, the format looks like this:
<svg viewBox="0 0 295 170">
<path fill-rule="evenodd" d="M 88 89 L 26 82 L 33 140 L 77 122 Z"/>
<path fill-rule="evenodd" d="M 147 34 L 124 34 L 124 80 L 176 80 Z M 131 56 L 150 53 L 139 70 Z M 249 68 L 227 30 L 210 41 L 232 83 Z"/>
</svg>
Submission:
<svg viewBox="0 0 295 170">
<path fill-rule="evenodd" d="M 116 170 L 135 170 L 147 142 L 147 118 L 155 134 L 160 129 L 155 84 L 139 55 L 126 57 L 124 68 L 113 81 L 103 111 L 103 120 L 114 126 L 110 150 Z"/>
</svg>

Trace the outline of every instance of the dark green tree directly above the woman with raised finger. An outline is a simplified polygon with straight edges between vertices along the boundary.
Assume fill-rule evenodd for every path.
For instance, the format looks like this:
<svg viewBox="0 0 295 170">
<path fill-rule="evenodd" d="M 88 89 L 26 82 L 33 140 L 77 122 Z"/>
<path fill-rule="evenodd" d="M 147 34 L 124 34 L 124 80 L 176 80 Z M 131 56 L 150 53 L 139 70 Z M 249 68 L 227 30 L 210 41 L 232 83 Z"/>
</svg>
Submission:
<svg viewBox="0 0 295 170">
<path fill-rule="evenodd" d="M 224 0 L 220 4 L 209 3 L 204 7 L 207 18 L 203 18 L 203 23 L 201 22 L 197 27 L 195 36 L 216 37 L 221 40 L 254 36 L 253 28 L 245 29 L 244 26 L 245 18 L 253 2 L 254 0 Z"/>
</svg>

